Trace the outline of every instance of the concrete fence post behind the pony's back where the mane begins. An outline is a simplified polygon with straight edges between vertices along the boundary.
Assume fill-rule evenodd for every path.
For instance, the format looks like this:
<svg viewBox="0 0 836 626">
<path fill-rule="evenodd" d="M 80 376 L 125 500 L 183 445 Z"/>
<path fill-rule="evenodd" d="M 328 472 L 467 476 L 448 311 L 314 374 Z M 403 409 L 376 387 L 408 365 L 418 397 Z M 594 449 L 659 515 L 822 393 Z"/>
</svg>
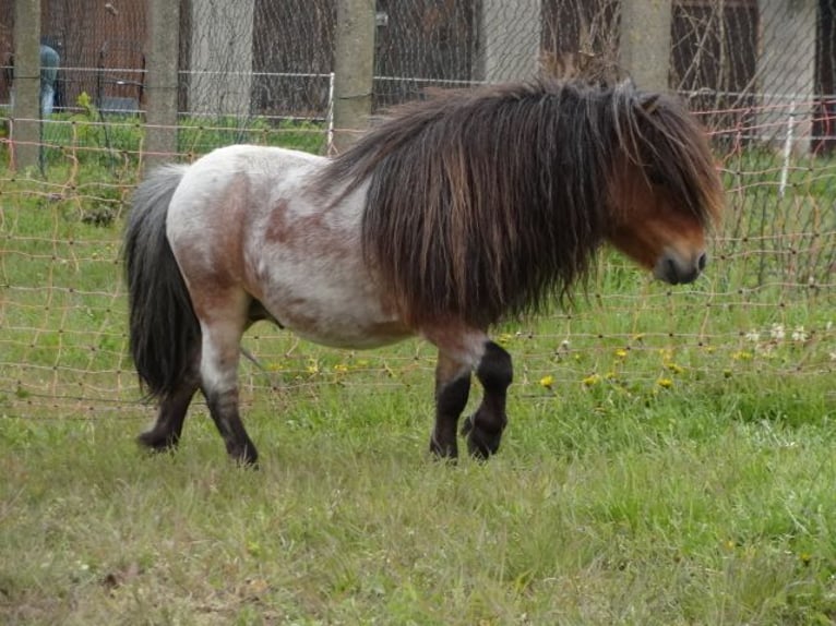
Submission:
<svg viewBox="0 0 836 626">
<path fill-rule="evenodd" d="M 344 152 L 371 115 L 374 0 L 338 0 L 334 49 L 334 140 Z"/>
</svg>

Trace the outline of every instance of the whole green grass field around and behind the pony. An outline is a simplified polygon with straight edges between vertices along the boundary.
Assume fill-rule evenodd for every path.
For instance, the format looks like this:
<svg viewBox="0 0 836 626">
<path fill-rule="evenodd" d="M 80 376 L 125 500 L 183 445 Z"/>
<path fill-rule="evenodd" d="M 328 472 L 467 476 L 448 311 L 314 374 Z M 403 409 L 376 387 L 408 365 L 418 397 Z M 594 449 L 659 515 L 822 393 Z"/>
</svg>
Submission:
<svg viewBox="0 0 836 626">
<path fill-rule="evenodd" d="M 692 287 L 606 253 L 588 298 L 497 328 L 515 383 L 487 464 L 427 453 L 427 345 L 256 325 L 260 471 L 200 402 L 176 455 L 133 443 L 135 169 L 0 174 L 0 623 L 835 623 L 833 167 L 784 200 L 756 158 L 730 171 Z"/>
</svg>

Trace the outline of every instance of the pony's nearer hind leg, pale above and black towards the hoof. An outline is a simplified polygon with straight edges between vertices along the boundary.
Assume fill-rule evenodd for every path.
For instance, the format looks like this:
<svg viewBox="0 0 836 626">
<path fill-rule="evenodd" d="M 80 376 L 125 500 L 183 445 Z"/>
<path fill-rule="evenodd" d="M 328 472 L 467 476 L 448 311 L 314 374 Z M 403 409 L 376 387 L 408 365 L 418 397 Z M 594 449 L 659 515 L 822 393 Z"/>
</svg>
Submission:
<svg viewBox="0 0 836 626">
<path fill-rule="evenodd" d="M 210 414 L 237 462 L 255 466 L 259 453 L 238 412 L 239 342 L 243 333 L 236 323 L 202 324 L 201 390 Z"/>
</svg>

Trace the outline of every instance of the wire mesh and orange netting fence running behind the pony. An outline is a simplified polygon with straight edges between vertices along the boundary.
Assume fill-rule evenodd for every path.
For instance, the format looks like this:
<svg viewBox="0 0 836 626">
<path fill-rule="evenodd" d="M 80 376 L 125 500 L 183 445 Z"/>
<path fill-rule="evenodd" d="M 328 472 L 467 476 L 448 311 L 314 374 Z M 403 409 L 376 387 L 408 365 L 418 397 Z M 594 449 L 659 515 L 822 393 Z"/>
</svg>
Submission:
<svg viewBox="0 0 836 626">
<path fill-rule="evenodd" d="M 0 0 L 0 15 L 12 4 Z M 43 176 L 0 172 L 0 413 L 144 414 L 119 251 L 143 164 L 148 9 L 41 8 L 61 70 L 41 125 Z M 538 73 L 623 80 L 620 15 L 617 0 L 379 0 L 373 110 Z M 0 19 L 7 118 L 13 26 Z M 182 2 L 167 156 L 240 142 L 324 154 L 338 27 L 333 0 Z M 497 329 L 518 357 L 518 394 L 653 395 L 836 368 L 836 1 L 678 0 L 668 35 L 668 86 L 708 129 L 728 190 L 714 262 L 695 286 L 668 289 L 601 256 L 588 301 Z M 5 132 L 8 164 L 8 121 Z M 429 388 L 432 377 L 432 350 L 418 342 L 334 352 L 256 325 L 246 345 L 260 363 L 242 364 L 250 401 L 332 384 Z"/>
</svg>

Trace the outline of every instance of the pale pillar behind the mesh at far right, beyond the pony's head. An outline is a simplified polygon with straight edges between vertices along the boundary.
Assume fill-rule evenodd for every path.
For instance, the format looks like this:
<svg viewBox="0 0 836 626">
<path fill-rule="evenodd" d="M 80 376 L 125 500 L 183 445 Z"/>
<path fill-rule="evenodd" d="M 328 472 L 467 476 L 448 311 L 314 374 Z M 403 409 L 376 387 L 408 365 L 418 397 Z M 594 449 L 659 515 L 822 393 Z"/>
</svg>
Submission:
<svg viewBox="0 0 836 626">
<path fill-rule="evenodd" d="M 759 0 L 759 134 L 810 151 L 814 115 L 816 0 Z"/>
</svg>

